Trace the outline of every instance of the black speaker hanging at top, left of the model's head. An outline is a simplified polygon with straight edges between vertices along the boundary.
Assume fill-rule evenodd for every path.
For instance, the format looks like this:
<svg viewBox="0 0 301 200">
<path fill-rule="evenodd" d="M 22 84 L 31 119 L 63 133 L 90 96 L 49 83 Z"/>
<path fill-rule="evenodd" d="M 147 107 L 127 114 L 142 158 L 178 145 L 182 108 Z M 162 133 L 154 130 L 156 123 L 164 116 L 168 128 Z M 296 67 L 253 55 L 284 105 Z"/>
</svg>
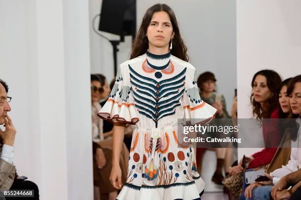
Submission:
<svg viewBox="0 0 301 200">
<path fill-rule="evenodd" d="M 136 0 L 103 0 L 98 30 L 120 36 L 134 36 Z"/>
</svg>

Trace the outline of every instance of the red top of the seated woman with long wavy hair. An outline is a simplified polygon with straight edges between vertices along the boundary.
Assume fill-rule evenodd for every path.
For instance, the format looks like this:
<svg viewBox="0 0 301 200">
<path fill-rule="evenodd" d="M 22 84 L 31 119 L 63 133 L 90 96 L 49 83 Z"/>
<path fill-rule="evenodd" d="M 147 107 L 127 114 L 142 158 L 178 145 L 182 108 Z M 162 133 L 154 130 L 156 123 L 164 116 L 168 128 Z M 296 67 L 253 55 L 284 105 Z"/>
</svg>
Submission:
<svg viewBox="0 0 301 200">
<path fill-rule="evenodd" d="M 271 113 L 270 118 L 279 118 L 279 108 Z M 264 121 L 265 122 L 265 121 Z M 275 123 L 275 121 L 271 121 L 271 123 Z M 266 146 L 277 146 L 281 142 L 281 132 L 276 131 L 276 126 L 271 125 L 263 125 L 263 137 Z M 269 134 L 270 133 L 270 134 Z M 272 133 L 272 135 L 271 135 Z M 264 148 L 263 150 L 254 153 L 252 157 L 254 160 L 250 162 L 247 169 L 256 168 L 262 165 L 268 165 L 271 163 L 274 154 L 276 153 L 277 147 L 272 148 Z"/>
</svg>

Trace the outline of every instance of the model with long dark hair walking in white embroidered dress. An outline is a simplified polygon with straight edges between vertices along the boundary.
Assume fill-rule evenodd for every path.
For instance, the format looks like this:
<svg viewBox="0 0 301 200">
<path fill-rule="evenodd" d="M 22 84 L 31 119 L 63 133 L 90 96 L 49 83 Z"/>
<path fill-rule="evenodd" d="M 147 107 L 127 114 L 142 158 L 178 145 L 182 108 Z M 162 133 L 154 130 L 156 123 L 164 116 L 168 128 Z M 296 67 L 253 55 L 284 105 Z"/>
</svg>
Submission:
<svg viewBox="0 0 301 200">
<path fill-rule="evenodd" d="M 117 189 L 122 187 L 124 127 L 136 124 L 127 180 L 118 200 L 200 200 L 204 192 L 193 146 L 178 140 L 178 119 L 209 122 L 216 109 L 200 98 L 196 70 L 187 61 L 175 13 L 166 4 L 151 6 L 131 59 L 120 64 L 109 99 L 98 113 L 114 123 L 110 179 Z"/>
</svg>

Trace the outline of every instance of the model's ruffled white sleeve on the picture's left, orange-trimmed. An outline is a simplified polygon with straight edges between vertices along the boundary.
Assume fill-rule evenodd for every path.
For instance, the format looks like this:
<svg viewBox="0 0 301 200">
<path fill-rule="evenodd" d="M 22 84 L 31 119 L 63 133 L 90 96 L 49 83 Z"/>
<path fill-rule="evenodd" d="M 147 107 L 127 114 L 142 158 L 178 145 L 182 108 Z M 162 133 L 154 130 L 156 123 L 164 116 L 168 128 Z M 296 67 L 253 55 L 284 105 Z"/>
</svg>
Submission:
<svg viewBox="0 0 301 200">
<path fill-rule="evenodd" d="M 100 118 L 112 123 L 136 124 L 138 122 L 127 74 L 126 68 L 120 66 L 111 94 L 97 114 Z"/>
</svg>

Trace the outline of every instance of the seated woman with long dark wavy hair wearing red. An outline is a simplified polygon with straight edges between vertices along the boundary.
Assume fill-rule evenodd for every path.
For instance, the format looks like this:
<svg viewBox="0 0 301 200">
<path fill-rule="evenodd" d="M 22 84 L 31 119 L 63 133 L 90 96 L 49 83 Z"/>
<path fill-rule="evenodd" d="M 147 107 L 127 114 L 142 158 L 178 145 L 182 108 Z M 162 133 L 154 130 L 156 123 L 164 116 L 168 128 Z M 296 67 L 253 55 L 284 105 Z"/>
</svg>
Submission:
<svg viewBox="0 0 301 200">
<path fill-rule="evenodd" d="M 264 118 L 279 118 L 279 102 L 277 97 L 278 88 L 281 85 L 280 76 L 273 70 L 261 70 L 257 72 L 252 79 L 252 93 L 250 96 L 253 114 L 256 118 L 263 122 Z M 282 135 L 273 131 L 273 135 L 269 135 L 271 126 L 263 126 L 263 139 L 266 146 L 278 146 Z M 272 140 L 271 138 L 272 137 Z M 249 171 L 253 169 L 261 169 L 265 165 L 271 163 L 271 160 L 277 148 L 264 148 L 260 152 L 254 153 L 250 157 L 246 157 L 246 169 Z M 237 166 L 234 166 L 229 171 L 229 176 L 223 181 L 223 184 L 230 190 L 230 197 L 244 199 L 242 191 L 247 187 L 244 183 L 245 169 L 242 167 L 242 159 Z M 233 182 L 236 184 L 233 187 Z"/>
</svg>

